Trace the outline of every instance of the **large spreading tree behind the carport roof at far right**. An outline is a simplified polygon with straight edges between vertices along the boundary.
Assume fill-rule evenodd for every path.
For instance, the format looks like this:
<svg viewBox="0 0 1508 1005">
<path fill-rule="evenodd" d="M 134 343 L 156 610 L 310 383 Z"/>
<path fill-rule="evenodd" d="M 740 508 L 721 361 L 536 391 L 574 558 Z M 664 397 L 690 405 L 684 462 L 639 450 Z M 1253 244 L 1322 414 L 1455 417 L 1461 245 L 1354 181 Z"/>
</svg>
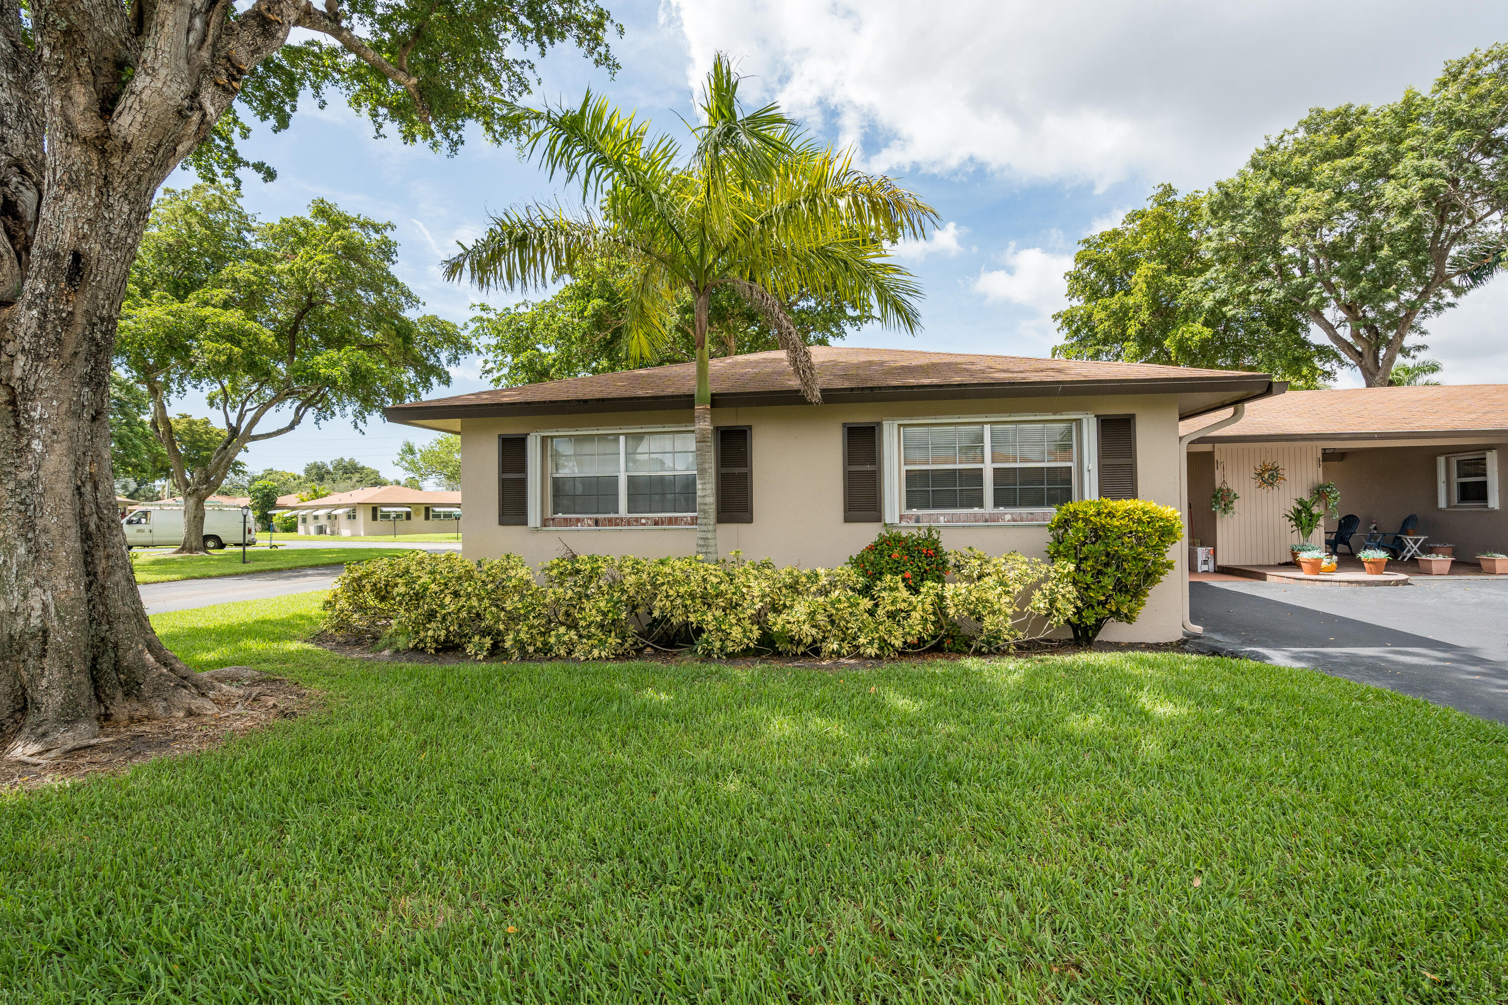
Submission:
<svg viewBox="0 0 1508 1005">
<path fill-rule="evenodd" d="M 1209 193 L 1209 286 L 1301 312 L 1386 386 L 1424 322 L 1500 268 L 1505 154 L 1508 44 L 1446 63 L 1428 93 L 1315 108 Z"/>
</svg>

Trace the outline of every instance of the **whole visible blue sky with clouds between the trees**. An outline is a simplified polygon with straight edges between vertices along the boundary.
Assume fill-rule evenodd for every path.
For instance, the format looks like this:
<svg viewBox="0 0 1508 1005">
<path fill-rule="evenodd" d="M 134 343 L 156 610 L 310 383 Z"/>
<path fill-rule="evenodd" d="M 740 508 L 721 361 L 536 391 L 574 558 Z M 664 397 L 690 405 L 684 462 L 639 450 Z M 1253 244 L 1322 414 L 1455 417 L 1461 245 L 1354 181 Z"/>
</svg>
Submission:
<svg viewBox="0 0 1508 1005">
<path fill-rule="evenodd" d="M 867 330 L 849 344 L 1015 356 L 1051 353 L 1075 243 L 1155 184 L 1206 187 L 1312 105 L 1427 89 L 1443 60 L 1508 38 L 1508 9 L 1476 0 L 606 2 L 624 26 L 614 45 L 623 69 L 609 78 L 573 51 L 552 53 L 534 101 L 575 101 L 590 86 L 680 131 L 695 81 L 727 51 L 751 99 L 780 101 L 941 214 L 926 246 L 900 249 L 926 289 L 924 330 Z M 445 283 L 439 259 L 481 234 L 489 209 L 555 194 L 511 148 L 480 136 L 454 158 L 406 148 L 374 139 L 339 102 L 305 102 L 293 128 L 258 128 L 244 148 L 279 172 L 273 184 L 244 181 L 250 209 L 277 217 L 326 197 L 391 220 L 400 277 L 425 310 L 457 322 L 474 301 L 517 297 Z M 179 172 L 167 184 L 192 181 Z M 1508 381 L 1505 315 L 1499 280 L 1431 324 L 1430 356 L 1448 383 Z M 469 362 L 436 393 L 484 387 Z M 196 399 L 178 410 L 210 414 Z M 400 476 L 392 458 L 406 438 L 428 437 L 382 419 L 365 431 L 335 420 L 255 444 L 246 461 L 302 470 L 356 457 Z"/>
</svg>

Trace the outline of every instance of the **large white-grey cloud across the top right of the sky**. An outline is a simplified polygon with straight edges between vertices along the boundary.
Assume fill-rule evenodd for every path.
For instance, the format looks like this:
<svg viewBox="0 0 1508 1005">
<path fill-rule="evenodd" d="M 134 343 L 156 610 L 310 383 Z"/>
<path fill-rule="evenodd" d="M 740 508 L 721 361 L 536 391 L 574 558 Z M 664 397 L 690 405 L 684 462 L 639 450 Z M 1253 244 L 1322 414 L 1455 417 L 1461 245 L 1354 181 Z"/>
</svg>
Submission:
<svg viewBox="0 0 1508 1005">
<path fill-rule="evenodd" d="M 727 51 L 875 170 L 1096 187 L 1209 184 L 1309 107 L 1428 87 L 1508 27 L 1494 0 L 1451 17 L 1415 0 L 662 0 L 661 17 L 694 87 Z"/>
</svg>

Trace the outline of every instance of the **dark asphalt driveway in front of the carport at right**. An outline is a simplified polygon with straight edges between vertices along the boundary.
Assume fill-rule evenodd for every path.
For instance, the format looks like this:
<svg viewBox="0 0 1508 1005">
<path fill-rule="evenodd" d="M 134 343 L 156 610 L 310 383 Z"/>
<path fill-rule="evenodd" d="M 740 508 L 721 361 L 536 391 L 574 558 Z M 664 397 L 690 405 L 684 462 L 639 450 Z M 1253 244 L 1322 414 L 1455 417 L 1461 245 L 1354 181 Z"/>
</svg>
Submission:
<svg viewBox="0 0 1508 1005">
<path fill-rule="evenodd" d="M 1196 643 L 1508 723 L 1508 582 L 1190 583 Z"/>
</svg>

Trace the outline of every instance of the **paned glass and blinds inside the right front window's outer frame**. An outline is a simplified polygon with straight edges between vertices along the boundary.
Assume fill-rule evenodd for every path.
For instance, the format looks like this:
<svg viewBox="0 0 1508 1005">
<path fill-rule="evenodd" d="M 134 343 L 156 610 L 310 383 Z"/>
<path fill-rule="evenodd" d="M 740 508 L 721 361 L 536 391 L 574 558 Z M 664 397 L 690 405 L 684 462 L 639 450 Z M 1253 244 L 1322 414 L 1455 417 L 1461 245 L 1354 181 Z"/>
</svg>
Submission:
<svg viewBox="0 0 1508 1005">
<path fill-rule="evenodd" d="M 1077 423 L 908 425 L 900 467 L 905 512 L 1053 509 L 1074 500 Z"/>
</svg>

